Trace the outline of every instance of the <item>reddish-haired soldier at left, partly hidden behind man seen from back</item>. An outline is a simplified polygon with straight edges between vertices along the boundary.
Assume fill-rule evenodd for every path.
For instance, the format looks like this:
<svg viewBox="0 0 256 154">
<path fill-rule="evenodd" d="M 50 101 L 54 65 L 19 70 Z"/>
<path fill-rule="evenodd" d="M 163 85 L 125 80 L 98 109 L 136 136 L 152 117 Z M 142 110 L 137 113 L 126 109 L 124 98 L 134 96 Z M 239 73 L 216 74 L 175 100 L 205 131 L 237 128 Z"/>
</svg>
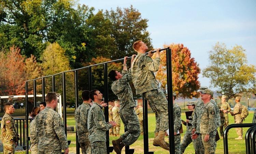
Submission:
<svg viewBox="0 0 256 154">
<path fill-rule="evenodd" d="M 40 107 L 33 107 L 32 112 L 31 112 L 31 117 L 37 116 L 40 112 L 41 108 Z M 38 138 L 36 134 L 36 129 L 37 125 L 35 124 L 35 120 L 32 120 L 29 125 L 29 130 L 30 130 L 30 141 L 31 141 L 31 146 L 30 146 L 30 151 L 31 154 L 37 154 L 38 153 Z"/>
</svg>

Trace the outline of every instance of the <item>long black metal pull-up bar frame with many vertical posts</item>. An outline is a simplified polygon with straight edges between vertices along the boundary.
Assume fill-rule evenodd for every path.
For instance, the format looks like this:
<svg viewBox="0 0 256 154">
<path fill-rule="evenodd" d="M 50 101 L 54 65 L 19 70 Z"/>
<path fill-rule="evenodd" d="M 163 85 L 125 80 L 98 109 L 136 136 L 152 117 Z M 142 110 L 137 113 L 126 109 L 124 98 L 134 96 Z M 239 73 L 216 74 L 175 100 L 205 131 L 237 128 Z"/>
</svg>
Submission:
<svg viewBox="0 0 256 154">
<path fill-rule="evenodd" d="M 167 94 L 168 94 L 168 119 L 169 119 L 169 128 L 170 128 L 170 137 L 169 137 L 169 141 L 170 141 L 170 153 L 174 154 L 175 153 L 175 149 L 174 149 L 174 123 L 173 123 L 173 102 L 172 102 L 172 69 L 171 69 L 171 49 L 168 48 L 163 48 L 160 49 L 160 51 L 166 50 L 166 59 L 167 59 L 167 86 L 168 86 L 168 90 L 167 90 Z M 153 51 L 152 53 L 154 53 L 156 51 Z M 145 53 L 145 54 L 148 54 Z M 131 57 L 128 57 L 128 59 L 130 59 Z M 36 80 L 41 79 L 42 80 L 42 93 L 45 94 L 45 78 L 48 77 L 52 77 L 52 91 L 55 92 L 55 76 L 56 75 L 62 75 L 62 92 L 63 92 L 63 121 L 64 121 L 64 130 L 65 130 L 65 134 L 67 135 L 67 117 L 66 117 L 66 73 L 68 72 L 74 72 L 74 80 L 75 80 L 75 104 L 76 104 L 76 108 L 79 106 L 78 102 L 79 102 L 79 95 L 78 95 L 78 71 L 79 70 L 83 70 L 85 68 L 88 69 L 88 80 L 89 80 L 89 90 L 92 90 L 92 72 L 91 72 L 91 67 L 94 66 L 98 66 L 98 65 L 104 65 L 104 100 L 108 101 L 108 63 L 112 63 L 112 62 L 117 62 L 117 61 L 122 61 L 124 60 L 124 58 L 122 59 L 117 59 L 117 60 L 113 60 L 113 61 L 108 61 L 108 62 L 104 62 L 104 63 L 100 63 L 100 64 L 95 64 L 95 65 L 90 65 L 90 66 L 86 66 L 86 67 L 82 67 L 82 68 L 78 68 L 75 70 L 69 70 L 69 71 L 64 71 L 64 72 L 60 72 L 54 75 L 49 75 L 49 76 L 44 76 L 44 77 L 40 77 L 37 79 L 32 79 L 32 80 L 27 80 L 26 84 L 25 84 L 25 89 L 26 89 L 26 124 L 28 126 L 28 82 L 33 81 L 33 87 L 34 87 L 34 95 L 36 95 Z M 45 99 L 43 98 L 43 101 L 45 101 Z M 36 103 L 36 98 L 34 98 L 34 104 Z M 35 104 L 36 105 L 36 104 Z M 143 128 L 144 128 L 144 153 L 154 153 L 154 152 L 149 152 L 148 151 L 148 119 L 147 119 L 147 101 L 145 99 L 143 99 Z M 105 119 L 106 121 L 109 120 L 108 117 L 108 107 L 105 108 Z M 26 129 L 26 133 L 28 132 L 28 127 Z M 28 138 L 28 133 L 26 134 L 27 138 Z M 109 147 L 109 132 L 106 131 L 106 147 L 107 147 L 107 151 L 112 152 L 113 151 L 113 147 Z M 127 148 L 126 148 L 127 149 Z M 129 148 L 126 150 L 126 153 L 129 151 Z M 132 150 L 131 150 L 132 151 Z M 28 140 L 27 140 L 27 149 L 26 152 L 28 153 Z M 79 154 L 79 143 L 77 142 L 77 136 L 76 136 L 76 153 Z"/>
</svg>

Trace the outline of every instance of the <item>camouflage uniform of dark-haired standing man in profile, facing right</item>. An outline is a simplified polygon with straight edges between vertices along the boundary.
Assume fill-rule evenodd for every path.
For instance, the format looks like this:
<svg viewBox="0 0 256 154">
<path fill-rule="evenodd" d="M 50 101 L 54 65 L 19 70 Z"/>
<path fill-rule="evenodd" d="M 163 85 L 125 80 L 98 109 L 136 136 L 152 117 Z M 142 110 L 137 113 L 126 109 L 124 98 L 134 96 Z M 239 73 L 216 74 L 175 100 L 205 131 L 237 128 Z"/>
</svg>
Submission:
<svg viewBox="0 0 256 154">
<path fill-rule="evenodd" d="M 91 143 L 91 154 L 106 154 L 106 131 L 112 127 L 106 123 L 102 107 L 93 103 L 88 113 L 87 128 Z"/>
</svg>

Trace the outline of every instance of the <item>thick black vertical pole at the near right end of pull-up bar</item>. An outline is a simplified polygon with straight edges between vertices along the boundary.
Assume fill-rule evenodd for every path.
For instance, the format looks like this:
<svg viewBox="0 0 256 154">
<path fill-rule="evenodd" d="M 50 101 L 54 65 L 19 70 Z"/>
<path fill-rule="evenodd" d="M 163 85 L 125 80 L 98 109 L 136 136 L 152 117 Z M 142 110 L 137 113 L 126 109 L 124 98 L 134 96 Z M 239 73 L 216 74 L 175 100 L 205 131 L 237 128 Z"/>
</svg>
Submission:
<svg viewBox="0 0 256 154">
<path fill-rule="evenodd" d="M 171 49 L 166 49 L 167 66 L 167 94 L 168 94 L 168 120 L 169 120 L 169 144 L 170 154 L 175 154 L 174 147 L 174 123 L 173 123 L 173 101 L 172 101 L 172 59 Z"/>
</svg>

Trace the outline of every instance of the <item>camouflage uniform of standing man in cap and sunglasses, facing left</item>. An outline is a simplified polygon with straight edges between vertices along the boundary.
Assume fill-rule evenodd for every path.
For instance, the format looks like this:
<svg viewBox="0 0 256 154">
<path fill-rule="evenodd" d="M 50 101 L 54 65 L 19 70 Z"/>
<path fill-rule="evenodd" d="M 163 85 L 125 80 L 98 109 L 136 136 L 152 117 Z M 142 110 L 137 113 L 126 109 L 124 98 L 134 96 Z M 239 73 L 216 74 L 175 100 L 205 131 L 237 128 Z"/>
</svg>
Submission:
<svg viewBox="0 0 256 154">
<path fill-rule="evenodd" d="M 214 154 L 216 150 L 216 109 L 212 103 L 206 103 L 202 107 L 200 120 L 200 134 L 205 154 Z M 205 135 L 210 135 L 208 141 L 204 141 Z"/>
</svg>

